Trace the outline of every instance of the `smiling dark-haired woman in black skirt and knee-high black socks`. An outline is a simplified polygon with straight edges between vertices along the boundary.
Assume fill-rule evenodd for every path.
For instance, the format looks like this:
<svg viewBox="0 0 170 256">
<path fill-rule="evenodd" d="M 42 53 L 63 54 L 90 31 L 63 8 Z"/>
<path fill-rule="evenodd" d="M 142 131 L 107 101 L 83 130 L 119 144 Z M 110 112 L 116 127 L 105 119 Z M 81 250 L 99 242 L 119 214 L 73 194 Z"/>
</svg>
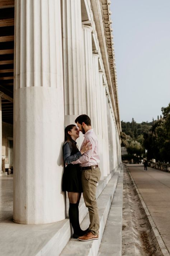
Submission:
<svg viewBox="0 0 170 256">
<path fill-rule="evenodd" d="M 76 146 L 76 139 L 79 138 L 79 129 L 76 125 L 68 125 L 65 128 L 65 143 L 63 145 L 63 154 L 66 167 L 63 173 L 62 191 L 68 192 L 69 197 L 69 218 L 73 227 L 73 238 L 78 238 L 86 233 L 80 228 L 79 224 L 79 202 L 81 198 L 81 170 L 79 164 L 73 165 L 86 151 L 91 149 L 89 142 L 79 151 Z"/>
</svg>

